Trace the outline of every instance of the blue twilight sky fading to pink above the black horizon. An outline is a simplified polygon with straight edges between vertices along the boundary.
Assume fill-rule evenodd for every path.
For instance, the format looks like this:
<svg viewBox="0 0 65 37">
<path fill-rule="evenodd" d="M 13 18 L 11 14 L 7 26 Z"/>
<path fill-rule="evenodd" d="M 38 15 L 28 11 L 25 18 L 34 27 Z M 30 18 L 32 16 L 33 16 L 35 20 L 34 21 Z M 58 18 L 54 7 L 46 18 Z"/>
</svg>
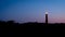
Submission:
<svg viewBox="0 0 65 37">
<path fill-rule="evenodd" d="M 65 0 L 0 0 L 0 21 L 65 23 Z"/>
</svg>

